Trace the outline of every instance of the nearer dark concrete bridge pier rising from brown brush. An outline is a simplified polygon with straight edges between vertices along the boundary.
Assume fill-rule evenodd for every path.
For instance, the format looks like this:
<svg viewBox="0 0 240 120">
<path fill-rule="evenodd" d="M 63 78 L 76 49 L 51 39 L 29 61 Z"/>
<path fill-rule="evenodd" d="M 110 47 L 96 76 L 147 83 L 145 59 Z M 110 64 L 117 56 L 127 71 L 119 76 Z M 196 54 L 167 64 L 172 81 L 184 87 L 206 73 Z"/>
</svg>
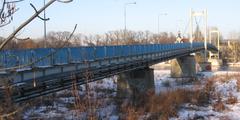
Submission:
<svg viewBox="0 0 240 120">
<path fill-rule="evenodd" d="M 145 68 L 141 70 L 130 71 L 119 75 L 117 82 L 117 97 L 129 98 L 131 103 L 138 104 L 140 96 L 149 90 L 154 90 L 153 69 Z"/>
</svg>

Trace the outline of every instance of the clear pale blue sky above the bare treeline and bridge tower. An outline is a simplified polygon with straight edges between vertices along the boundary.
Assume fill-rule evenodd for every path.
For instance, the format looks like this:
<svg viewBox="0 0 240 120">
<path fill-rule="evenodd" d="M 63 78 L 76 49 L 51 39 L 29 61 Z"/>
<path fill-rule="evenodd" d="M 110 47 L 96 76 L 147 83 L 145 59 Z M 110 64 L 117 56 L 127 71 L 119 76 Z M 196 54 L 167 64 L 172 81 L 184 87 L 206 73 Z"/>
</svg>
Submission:
<svg viewBox="0 0 240 120">
<path fill-rule="evenodd" d="M 46 0 L 48 1 L 48 0 Z M 217 26 L 225 37 L 229 32 L 240 30 L 239 0 L 74 0 L 69 4 L 54 3 L 47 9 L 48 31 L 71 31 L 78 24 L 78 33 L 102 34 L 111 30 L 124 28 L 124 3 L 137 2 L 127 7 L 127 28 L 130 30 L 149 30 L 157 32 L 158 14 L 160 31 L 176 33 L 178 28 L 188 24 L 189 10 L 208 9 L 209 26 Z M 14 21 L 0 29 L 1 36 L 7 36 L 19 23 L 29 18 L 33 10 L 43 5 L 43 0 L 25 0 L 18 3 L 20 10 L 15 14 Z M 21 32 L 22 37 L 42 37 L 43 22 L 34 20 Z"/>
</svg>

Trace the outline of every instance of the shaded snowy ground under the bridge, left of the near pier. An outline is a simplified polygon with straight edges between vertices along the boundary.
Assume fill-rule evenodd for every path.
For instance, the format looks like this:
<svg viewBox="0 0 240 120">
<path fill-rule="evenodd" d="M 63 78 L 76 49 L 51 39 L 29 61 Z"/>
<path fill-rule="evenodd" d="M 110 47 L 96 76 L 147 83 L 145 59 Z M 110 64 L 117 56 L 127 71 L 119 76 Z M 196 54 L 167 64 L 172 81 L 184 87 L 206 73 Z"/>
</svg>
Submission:
<svg viewBox="0 0 240 120">
<path fill-rule="evenodd" d="M 117 86 L 115 83 L 116 77 L 112 77 L 89 84 L 89 99 L 93 101 L 91 102 L 92 107 L 97 108 L 91 110 L 93 110 L 94 114 L 98 115 L 97 117 L 118 120 L 118 116 L 114 113 L 116 111 L 116 104 L 112 100 L 116 96 Z M 24 112 L 23 119 L 85 120 L 87 119 L 87 114 L 90 113 L 90 109 L 86 109 L 88 99 L 86 98 L 85 85 L 81 85 L 78 92 L 81 100 L 85 100 L 81 105 L 75 104 L 76 99 L 73 97 L 72 90 L 65 90 L 57 93 L 57 100 L 54 100 L 51 105 L 41 104 L 40 106 L 31 106 Z M 78 106 L 82 110 L 75 108 Z"/>
</svg>

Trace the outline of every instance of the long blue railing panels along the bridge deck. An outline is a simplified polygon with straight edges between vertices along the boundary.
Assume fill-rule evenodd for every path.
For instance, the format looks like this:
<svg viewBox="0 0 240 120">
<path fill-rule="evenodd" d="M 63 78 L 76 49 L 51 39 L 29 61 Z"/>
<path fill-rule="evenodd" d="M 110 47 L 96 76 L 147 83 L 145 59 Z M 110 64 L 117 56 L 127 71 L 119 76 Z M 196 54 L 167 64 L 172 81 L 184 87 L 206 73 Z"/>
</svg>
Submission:
<svg viewBox="0 0 240 120">
<path fill-rule="evenodd" d="M 204 44 L 192 44 L 192 48 L 199 47 L 204 47 Z M 51 66 L 53 64 L 67 64 L 69 62 L 91 61 L 111 57 L 126 57 L 183 48 L 191 49 L 191 44 L 177 43 L 4 50 L 0 52 L 0 67 L 9 68 L 27 65 L 29 63 L 34 63 L 34 66 Z M 208 48 L 214 49 L 215 47 L 208 44 Z"/>
</svg>

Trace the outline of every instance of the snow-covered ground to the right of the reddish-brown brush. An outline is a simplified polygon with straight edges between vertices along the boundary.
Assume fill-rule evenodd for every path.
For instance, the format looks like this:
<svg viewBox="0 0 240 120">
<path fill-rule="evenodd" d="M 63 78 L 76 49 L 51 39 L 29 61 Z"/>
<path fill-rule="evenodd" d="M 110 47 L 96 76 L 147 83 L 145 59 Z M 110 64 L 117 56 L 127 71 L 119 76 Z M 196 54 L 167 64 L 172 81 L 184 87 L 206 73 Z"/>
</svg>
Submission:
<svg viewBox="0 0 240 120">
<path fill-rule="evenodd" d="M 205 72 L 205 77 L 213 76 L 225 76 L 225 75 L 236 75 L 240 72 L 231 71 L 217 71 L 217 72 Z M 240 119 L 240 91 L 238 90 L 237 80 L 238 78 L 231 78 L 229 80 L 220 80 L 221 77 L 216 78 L 214 82 L 214 92 L 220 95 L 220 98 L 225 105 L 223 111 L 214 110 L 214 103 L 216 99 L 210 101 L 211 104 L 208 106 L 196 106 L 191 104 L 185 104 L 182 109 L 178 112 L 177 118 L 171 118 L 171 120 L 239 120 Z M 237 102 L 233 104 L 227 104 L 226 101 L 230 97 L 237 98 Z"/>
</svg>

